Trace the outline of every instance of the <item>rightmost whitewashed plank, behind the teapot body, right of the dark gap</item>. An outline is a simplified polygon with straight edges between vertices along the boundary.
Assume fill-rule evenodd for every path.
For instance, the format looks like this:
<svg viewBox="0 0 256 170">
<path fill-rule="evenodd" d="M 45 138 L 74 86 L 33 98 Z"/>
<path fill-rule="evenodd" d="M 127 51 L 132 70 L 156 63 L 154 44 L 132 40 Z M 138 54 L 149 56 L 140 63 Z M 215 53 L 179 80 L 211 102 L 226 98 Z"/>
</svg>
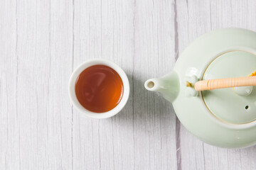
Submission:
<svg viewBox="0 0 256 170">
<path fill-rule="evenodd" d="M 255 1 L 177 1 L 179 52 L 198 36 L 218 28 L 256 30 Z M 255 169 L 255 148 L 221 149 L 181 126 L 182 169 Z"/>
</svg>

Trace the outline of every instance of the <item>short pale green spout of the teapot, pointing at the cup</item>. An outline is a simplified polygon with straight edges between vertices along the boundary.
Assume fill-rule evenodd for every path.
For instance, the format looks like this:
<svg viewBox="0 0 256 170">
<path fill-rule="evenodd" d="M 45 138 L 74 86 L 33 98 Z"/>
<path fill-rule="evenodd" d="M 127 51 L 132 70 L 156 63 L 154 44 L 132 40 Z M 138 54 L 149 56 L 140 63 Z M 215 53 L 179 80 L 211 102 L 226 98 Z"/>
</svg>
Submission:
<svg viewBox="0 0 256 170">
<path fill-rule="evenodd" d="M 179 93 L 178 74 L 171 72 L 158 79 L 148 79 L 144 86 L 148 91 L 159 92 L 167 101 L 174 102 Z"/>
</svg>

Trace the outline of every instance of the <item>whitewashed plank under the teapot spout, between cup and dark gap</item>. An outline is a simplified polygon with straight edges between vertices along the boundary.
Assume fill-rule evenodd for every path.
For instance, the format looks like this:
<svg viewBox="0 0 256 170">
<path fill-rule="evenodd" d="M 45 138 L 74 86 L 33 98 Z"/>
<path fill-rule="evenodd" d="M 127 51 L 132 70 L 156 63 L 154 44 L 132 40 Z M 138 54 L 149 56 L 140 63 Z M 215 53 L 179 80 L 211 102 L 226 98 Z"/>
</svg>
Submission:
<svg viewBox="0 0 256 170">
<path fill-rule="evenodd" d="M 176 117 L 171 103 L 144 81 L 174 67 L 174 2 L 136 1 L 134 54 L 135 169 L 176 169 Z"/>
</svg>

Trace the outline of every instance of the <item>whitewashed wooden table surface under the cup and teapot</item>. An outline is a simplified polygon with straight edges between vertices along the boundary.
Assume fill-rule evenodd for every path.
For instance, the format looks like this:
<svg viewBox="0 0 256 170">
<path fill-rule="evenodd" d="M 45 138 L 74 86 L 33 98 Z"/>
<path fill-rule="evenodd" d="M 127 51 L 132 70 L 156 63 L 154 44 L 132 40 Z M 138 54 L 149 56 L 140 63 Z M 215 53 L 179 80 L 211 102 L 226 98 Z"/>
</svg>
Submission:
<svg viewBox="0 0 256 170">
<path fill-rule="evenodd" d="M 256 1 L 0 0 L 0 169 L 256 169 L 256 147 L 201 142 L 144 89 L 199 35 L 227 27 L 256 31 Z M 113 118 L 70 104 L 70 74 L 92 58 L 129 77 Z"/>
</svg>

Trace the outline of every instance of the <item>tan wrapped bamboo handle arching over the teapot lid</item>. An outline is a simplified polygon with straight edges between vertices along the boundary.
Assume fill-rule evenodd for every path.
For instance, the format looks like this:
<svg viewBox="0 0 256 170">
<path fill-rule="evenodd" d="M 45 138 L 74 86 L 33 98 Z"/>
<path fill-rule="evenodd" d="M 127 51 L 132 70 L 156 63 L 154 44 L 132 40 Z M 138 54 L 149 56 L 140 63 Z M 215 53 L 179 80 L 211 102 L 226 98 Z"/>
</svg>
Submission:
<svg viewBox="0 0 256 170">
<path fill-rule="evenodd" d="M 238 86 L 256 86 L 256 77 L 238 77 L 230 79 L 210 79 L 198 81 L 195 84 L 196 91 L 223 89 Z"/>
</svg>

